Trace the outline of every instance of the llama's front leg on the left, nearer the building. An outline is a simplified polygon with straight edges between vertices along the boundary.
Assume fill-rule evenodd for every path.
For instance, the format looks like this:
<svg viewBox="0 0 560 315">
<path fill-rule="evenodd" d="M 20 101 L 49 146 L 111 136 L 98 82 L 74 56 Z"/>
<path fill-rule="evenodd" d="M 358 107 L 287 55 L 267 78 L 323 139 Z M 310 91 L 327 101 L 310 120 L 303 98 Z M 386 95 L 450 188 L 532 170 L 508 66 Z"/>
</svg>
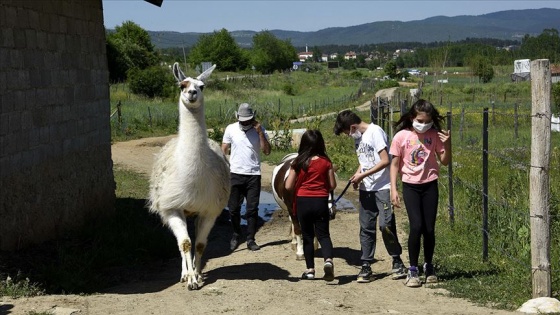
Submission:
<svg viewBox="0 0 560 315">
<path fill-rule="evenodd" d="M 181 282 L 189 281 L 194 276 L 192 270 L 191 239 L 187 230 L 187 221 L 181 211 L 173 211 L 167 216 L 167 225 L 177 239 L 181 253 Z M 189 281 L 190 282 L 190 281 Z"/>
</svg>

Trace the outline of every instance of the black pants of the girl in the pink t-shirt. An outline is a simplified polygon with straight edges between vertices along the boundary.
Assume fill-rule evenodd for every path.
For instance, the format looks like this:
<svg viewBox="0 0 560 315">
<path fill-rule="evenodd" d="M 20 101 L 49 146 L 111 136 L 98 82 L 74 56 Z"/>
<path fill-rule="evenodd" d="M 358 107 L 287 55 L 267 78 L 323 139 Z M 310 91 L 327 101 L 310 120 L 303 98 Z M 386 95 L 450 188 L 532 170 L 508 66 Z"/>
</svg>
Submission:
<svg viewBox="0 0 560 315">
<path fill-rule="evenodd" d="M 403 199 L 410 223 L 408 235 L 410 265 L 418 266 L 422 236 L 424 237 L 424 261 L 431 264 L 436 247 L 438 181 L 434 180 L 425 184 L 403 183 Z"/>
</svg>

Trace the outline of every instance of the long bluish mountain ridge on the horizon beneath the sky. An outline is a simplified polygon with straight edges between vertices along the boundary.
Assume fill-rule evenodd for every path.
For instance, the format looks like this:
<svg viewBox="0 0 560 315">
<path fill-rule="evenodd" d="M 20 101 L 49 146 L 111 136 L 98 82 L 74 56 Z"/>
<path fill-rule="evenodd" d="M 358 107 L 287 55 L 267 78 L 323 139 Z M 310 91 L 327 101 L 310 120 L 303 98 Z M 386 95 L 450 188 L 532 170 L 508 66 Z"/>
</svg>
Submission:
<svg viewBox="0 0 560 315">
<path fill-rule="evenodd" d="M 508 10 L 483 15 L 434 16 L 424 20 L 382 21 L 349 27 L 331 27 L 316 32 L 269 30 L 296 47 L 365 45 L 390 42 L 459 41 L 466 38 L 521 39 L 544 29 L 560 30 L 560 9 Z M 255 31 L 228 30 L 241 47 L 250 47 Z M 148 31 L 157 48 L 190 47 L 205 33 Z"/>
</svg>

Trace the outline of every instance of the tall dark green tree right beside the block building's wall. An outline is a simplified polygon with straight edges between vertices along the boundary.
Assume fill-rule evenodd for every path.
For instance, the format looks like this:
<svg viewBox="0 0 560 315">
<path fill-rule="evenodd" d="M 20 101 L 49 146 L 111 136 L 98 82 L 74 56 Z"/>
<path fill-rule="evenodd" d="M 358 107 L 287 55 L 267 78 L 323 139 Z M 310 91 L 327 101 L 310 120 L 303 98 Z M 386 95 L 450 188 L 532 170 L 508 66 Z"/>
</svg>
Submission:
<svg viewBox="0 0 560 315">
<path fill-rule="evenodd" d="M 150 35 L 132 21 L 107 34 L 107 59 L 110 78 L 125 80 L 130 69 L 146 69 L 159 62 Z"/>
</svg>

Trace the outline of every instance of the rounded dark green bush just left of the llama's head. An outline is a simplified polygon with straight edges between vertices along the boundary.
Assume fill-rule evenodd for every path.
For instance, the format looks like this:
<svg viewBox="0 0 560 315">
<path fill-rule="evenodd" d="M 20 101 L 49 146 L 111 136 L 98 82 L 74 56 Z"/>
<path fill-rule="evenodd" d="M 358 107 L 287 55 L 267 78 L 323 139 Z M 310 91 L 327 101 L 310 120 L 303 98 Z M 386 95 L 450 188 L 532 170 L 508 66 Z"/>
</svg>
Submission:
<svg viewBox="0 0 560 315">
<path fill-rule="evenodd" d="M 169 71 L 159 66 L 129 70 L 128 84 L 132 93 L 149 98 L 166 98 L 174 93 L 174 81 Z"/>
</svg>

